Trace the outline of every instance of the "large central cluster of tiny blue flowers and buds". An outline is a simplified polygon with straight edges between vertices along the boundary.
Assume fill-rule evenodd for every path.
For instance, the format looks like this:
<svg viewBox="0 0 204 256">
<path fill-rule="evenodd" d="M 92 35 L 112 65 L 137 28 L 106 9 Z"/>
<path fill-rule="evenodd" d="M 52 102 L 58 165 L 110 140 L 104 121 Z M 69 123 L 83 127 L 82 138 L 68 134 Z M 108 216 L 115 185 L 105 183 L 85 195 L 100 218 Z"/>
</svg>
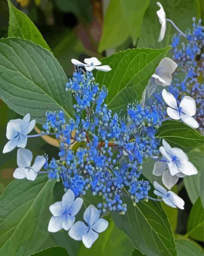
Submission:
<svg viewBox="0 0 204 256">
<path fill-rule="evenodd" d="M 144 159 L 158 154 L 155 133 L 161 125 L 158 109 L 134 103 L 127 117 L 112 113 L 105 104 L 107 90 L 99 87 L 92 73 L 74 72 L 66 84 L 76 100 L 74 118 L 64 112 L 47 112 L 47 133 L 52 129 L 60 141 L 59 159 L 46 161 L 48 177 L 61 179 L 65 191 L 75 196 L 90 190 L 102 196 L 100 212 L 126 212 L 123 188 L 137 203 L 148 195 L 148 181 L 140 179 Z"/>
</svg>

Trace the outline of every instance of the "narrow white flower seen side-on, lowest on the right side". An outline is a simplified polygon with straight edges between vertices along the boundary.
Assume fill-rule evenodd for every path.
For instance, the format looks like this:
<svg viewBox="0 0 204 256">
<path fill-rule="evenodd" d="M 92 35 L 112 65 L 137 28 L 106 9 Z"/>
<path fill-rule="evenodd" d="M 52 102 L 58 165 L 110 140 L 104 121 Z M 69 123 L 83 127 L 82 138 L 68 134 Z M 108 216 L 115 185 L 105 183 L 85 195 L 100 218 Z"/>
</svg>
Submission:
<svg viewBox="0 0 204 256">
<path fill-rule="evenodd" d="M 179 208 L 179 209 L 184 209 L 184 200 L 177 196 L 174 192 L 172 191 L 166 191 L 164 187 L 162 187 L 159 183 L 154 181 L 154 194 L 156 196 L 162 197 L 162 200 L 164 201 L 165 204 L 168 206 L 171 206 L 172 208 Z"/>
</svg>

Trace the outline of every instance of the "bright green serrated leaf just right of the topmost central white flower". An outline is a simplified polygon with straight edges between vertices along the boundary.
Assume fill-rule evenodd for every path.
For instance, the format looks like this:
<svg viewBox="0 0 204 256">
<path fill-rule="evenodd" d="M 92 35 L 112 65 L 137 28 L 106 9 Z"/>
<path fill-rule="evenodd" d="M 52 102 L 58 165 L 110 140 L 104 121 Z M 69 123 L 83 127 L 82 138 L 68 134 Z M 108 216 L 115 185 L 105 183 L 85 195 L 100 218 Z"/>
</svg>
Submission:
<svg viewBox="0 0 204 256">
<path fill-rule="evenodd" d="M 117 52 L 103 58 L 102 64 L 109 65 L 110 72 L 96 72 L 96 82 L 108 88 L 106 103 L 109 109 L 125 111 L 128 103 L 140 101 L 148 80 L 160 60 L 170 50 L 136 48 Z"/>
</svg>

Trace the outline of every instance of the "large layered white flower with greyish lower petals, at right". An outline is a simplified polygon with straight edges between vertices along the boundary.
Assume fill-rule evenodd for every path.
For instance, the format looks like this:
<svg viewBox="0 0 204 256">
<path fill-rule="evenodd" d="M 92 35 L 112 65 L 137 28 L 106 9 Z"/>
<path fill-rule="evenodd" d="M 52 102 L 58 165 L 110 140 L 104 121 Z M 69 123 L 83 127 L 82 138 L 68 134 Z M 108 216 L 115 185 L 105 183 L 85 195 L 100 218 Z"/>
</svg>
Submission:
<svg viewBox="0 0 204 256">
<path fill-rule="evenodd" d="M 153 174 L 156 176 L 162 175 L 162 182 L 171 189 L 176 184 L 178 178 L 183 178 L 186 175 L 195 175 L 198 173 L 196 167 L 188 161 L 188 156 L 177 147 L 170 145 L 163 139 L 163 147 L 159 150 L 163 157 L 161 161 L 154 164 Z"/>
</svg>

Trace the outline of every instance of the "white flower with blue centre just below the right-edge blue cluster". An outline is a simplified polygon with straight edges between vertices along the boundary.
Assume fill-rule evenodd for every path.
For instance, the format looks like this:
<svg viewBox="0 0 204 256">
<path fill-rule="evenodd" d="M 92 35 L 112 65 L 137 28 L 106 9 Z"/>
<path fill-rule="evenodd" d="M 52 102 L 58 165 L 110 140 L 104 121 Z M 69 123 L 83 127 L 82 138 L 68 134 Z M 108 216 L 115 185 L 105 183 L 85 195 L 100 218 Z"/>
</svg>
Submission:
<svg viewBox="0 0 204 256">
<path fill-rule="evenodd" d="M 198 128 L 198 122 L 192 117 L 196 114 L 196 103 L 194 99 L 192 99 L 190 96 L 184 96 L 178 107 L 174 95 L 168 93 L 166 89 L 163 89 L 162 97 L 169 106 L 167 107 L 166 111 L 172 119 L 182 119 L 186 125 L 192 128 Z"/>
</svg>

